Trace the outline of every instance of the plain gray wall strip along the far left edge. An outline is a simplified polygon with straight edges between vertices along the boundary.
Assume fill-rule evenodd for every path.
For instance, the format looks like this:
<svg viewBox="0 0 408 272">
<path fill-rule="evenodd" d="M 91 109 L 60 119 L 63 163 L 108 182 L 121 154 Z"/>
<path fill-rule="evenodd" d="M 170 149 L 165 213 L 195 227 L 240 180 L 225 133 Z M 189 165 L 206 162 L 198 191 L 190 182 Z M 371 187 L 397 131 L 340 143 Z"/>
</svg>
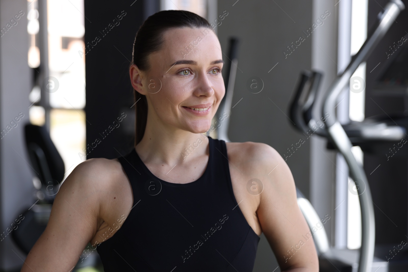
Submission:
<svg viewBox="0 0 408 272">
<path fill-rule="evenodd" d="M 23 208 L 33 205 L 31 167 L 24 145 L 24 125 L 29 122 L 28 95 L 31 69 L 27 64 L 27 0 L 0 1 L 0 27 L 22 10 L 24 15 L 0 38 L 0 129 L 23 113 L 17 126 L 0 139 L 0 233 L 10 231 Z M 14 47 L 14 48 L 13 48 Z M 11 126 L 10 126 L 11 127 Z M 13 244 L 11 232 L 0 242 L 0 270 L 21 266 L 26 256 Z"/>
</svg>

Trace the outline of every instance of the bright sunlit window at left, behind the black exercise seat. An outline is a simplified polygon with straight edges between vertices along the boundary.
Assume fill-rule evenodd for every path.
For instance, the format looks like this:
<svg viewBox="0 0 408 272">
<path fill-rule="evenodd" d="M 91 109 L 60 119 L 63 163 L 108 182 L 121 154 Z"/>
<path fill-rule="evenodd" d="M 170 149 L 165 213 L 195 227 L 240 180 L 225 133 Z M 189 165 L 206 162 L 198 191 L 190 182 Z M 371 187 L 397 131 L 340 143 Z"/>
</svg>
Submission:
<svg viewBox="0 0 408 272">
<path fill-rule="evenodd" d="M 28 62 L 40 66 L 38 42 L 38 1 L 27 2 L 29 34 Z M 84 0 L 48 0 L 48 70 L 49 108 L 40 106 L 42 80 L 35 82 L 29 100 L 30 121 L 44 125 L 50 116 L 50 136 L 65 166 L 64 179 L 85 160 L 78 153 L 85 148 L 85 57 L 78 54 L 84 46 Z M 40 66 L 41 67 L 41 66 Z"/>
</svg>

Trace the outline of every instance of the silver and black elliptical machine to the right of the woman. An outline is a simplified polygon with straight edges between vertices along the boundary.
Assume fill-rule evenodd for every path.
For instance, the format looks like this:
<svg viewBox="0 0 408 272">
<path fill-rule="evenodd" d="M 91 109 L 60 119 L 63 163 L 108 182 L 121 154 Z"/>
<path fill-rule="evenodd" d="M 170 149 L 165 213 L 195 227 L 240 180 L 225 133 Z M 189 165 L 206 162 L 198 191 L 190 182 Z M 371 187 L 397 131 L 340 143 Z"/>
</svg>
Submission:
<svg viewBox="0 0 408 272">
<path fill-rule="evenodd" d="M 341 125 L 336 119 L 336 101 L 337 96 L 350 82 L 350 77 L 353 75 L 359 64 L 364 62 L 368 55 L 373 51 L 375 45 L 381 40 L 381 38 L 388 31 L 391 24 L 394 22 L 393 18 L 397 18 L 400 11 L 404 10 L 404 4 L 400 0 L 391 0 L 386 5 L 384 12 L 381 12 L 377 18 L 377 22 L 374 27 L 369 31 L 366 42 L 361 46 L 356 55 L 352 57 L 350 64 L 343 74 L 338 75 L 333 81 L 330 88 L 322 95 L 324 95 L 324 102 L 322 105 L 317 106 L 315 100 L 317 100 L 317 89 L 319 86 L 319 80 L 321 74 L 314 72 L 304 72 L 300 76 L 299 84 L 297 86 L 297 92 L 295 99 L 290 107 L 290 116 L 296 121 L 296 128 L 302 132 L 308 132 L 310 129 L 316 128 L 317 118 L 313 116 L 313 109 L 317 107 L 321 116 L 325 116 L 326 113 L 330 114 L 330 118 L 326 119 L 325 126 L 317 128 L 315 132 L 318 135 L 327 137 L 329 140 L 328 148 L 337 149 L 345 158 L 348 168 L 350 169 L 350 177 L 355 182 L 357 190 L 363 190 L 358 192 L 360 206 L 361 206 L 361 225 L 362 225 L 362 239 L 361 249 L 357 250 L 338 250 L 333 248 L 327 248 L 323 245 L 326 244 L 327 237 L 314 237 L 317 249 L 322 253 L 327 260 L 330 261 L 342 261 L 346 263 L 344 271 L 354 271 L 358 267 L 358 272 L 374 271 L 405 271 L 408 268 L 408 263 L 400 262 L 397 265 L 392 266 L 391 262 L 387 260 L 374 257 L 375 252 L 375 221 L 374 210 L 371 200 L 370 188 L 368 186 L 367 177 L 364 173 L 362 166 L 357 163 L 355 157 L 351 153 L 351 147 L 358 145 L 364 152 L 375 153 L 379 150 L 384 150 L 384 144 L 401 140 L 408 131 L 408 119 L 406 117 L 400 117 L 397 121 L 398 124 L 390 120 L 390 117 L 370 117 L 366 118 L 363 122 L 351 121 L 349 124 Z M 300 206 L 300 205 L 299 205 Z M 302 209 L 302 212 L 304 209 Z M 304 212 L 306 221 L 313 221 L 312 216 Z M 308 219 L 309 218 L 309 219 Z M 322 239 L 322 241 L 316 241 Z M 377 251 L 381 249 L 378 248 Z M 385 255 L 385 254 L 384 254 Z M 321 259 L 320 259 L 321 258 Z M 320 271 L 334 271 L 336 270 L 327 262 L 324 262 L 322 256 L 319 256 L 321 263 Z M 358 263 L 357 263 L 357 259 Z M 322 270 L 323 269 L 323 270 Z M 327 270 L 326 270 L 327 269 Z M 334 270 L 333 270 L 334 269 Z M 395 269 L 395 270 L 393 270 Z"/>
</svg>

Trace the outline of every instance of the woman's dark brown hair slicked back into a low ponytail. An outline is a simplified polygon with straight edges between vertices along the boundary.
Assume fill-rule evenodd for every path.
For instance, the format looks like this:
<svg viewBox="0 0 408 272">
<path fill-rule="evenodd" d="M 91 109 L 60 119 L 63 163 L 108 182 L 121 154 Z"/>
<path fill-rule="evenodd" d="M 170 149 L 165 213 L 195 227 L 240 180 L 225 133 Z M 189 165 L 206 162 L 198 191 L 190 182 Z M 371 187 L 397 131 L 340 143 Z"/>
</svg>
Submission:
<svg viewBox="0 0 408 272">
<path fill-rule="evenodd" d="M 150 15 L 140 26 L 133 43 L 132 64 L 140 71 L 149 71 L 148 57 L 150 53 L 163 48 L 163 34 L 172 28 L 191 27 L 211 28 L 211 24 L 200 15 L 185 10 L 165 10 Z M 211 28 L 213 30 L 213 28 Z M 131 65 L 132 65 L 131 64 Z M 134 91 L 136 111 L 135 146 L 142 140 L 147 122 L 146 96 Z"/>
</svg>

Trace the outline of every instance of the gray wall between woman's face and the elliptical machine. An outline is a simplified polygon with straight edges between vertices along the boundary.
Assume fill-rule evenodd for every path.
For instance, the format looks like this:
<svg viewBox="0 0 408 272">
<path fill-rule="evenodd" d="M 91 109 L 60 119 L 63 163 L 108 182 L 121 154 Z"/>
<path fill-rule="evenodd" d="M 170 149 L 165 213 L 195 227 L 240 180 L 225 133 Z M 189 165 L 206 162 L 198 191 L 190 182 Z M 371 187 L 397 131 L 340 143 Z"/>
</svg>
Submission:
<svg viewBox="0 0 408 272">
<path fill-rule="evenodd" d="M 227 54 L 231 35 L 241 40 L 232 106 L 242 100 L 231 110 L 228 136 L 231 142 L 266 143 L 284 157 L 287 148 L 302 137 L 285 115 L 288 115 L 299 73 L 310 69 L 312 40 L 307 37 L 286 59 L 282 52 L 311 27 L 312 0 L 218 1 L 218 13 L 225 10 L 228 16 L 217 27 L 223 53 Z M 223 58 L 228 60 L 224 54 Z M 257 94 L 246 88 L 248 79 L 253 76 L 264 82 L 263 90 Z M 310 191 L 310 142 L 307 139 L 286 161 L 296 186 L 306 197 Z M 253 271 L 273 271 L 277 266 L 262 234 Z M 280 271 L 279 268 L 276 271 Z"/>
</svg>

